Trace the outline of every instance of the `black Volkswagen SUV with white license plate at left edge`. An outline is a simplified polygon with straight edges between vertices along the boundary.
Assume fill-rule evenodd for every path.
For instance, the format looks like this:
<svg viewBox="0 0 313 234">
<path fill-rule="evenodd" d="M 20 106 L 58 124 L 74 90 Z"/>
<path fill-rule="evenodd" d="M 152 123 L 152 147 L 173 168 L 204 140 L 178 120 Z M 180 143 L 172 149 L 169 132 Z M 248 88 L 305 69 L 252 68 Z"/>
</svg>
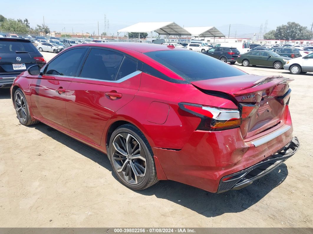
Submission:
<svg viewBox="0 0 313 234">
<path fill-rule="evenodd" d="M 9 88 L 28 67 L 44 66 L 46 60 L 32 42 L 22 38 L 0 37 L 0 88 Z"/>
</svg>

